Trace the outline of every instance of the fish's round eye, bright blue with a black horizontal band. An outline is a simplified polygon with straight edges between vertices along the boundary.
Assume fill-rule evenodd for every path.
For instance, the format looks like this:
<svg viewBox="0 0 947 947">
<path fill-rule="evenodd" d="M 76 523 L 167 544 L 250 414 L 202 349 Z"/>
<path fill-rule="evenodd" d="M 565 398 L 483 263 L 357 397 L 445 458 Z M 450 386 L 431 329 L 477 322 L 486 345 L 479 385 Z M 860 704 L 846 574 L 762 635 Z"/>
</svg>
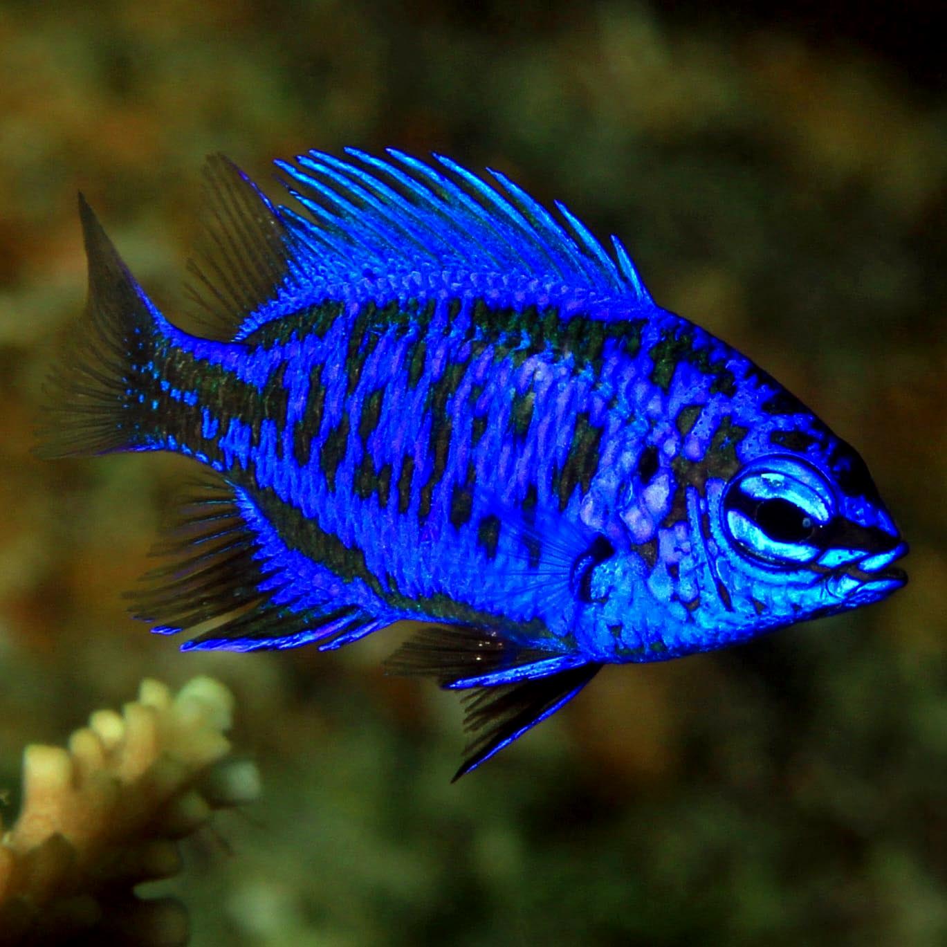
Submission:
<svg viewBox="0 0 947 947">
<path fill-rule="evenodd" d="M 809 563 L 834 515 L 825 477 L 792 457 L 748 465 L 724 493 L 724 528 L 737 549 L 763 563 Z"/>
</svg>

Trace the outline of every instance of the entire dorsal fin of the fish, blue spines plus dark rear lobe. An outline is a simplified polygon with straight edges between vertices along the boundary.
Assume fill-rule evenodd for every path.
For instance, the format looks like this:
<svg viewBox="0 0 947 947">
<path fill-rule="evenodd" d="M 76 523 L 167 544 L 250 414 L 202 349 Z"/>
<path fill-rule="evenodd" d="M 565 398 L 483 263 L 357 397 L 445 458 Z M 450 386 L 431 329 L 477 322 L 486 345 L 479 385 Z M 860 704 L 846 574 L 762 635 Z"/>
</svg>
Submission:
<svg viewBox="0 0 947 947">
<path fill-rule="evenodd" d="M 277 161 L 298 210 L 272 205 L 223 155 L 208 158 L 188 289 L 211 337 L 244 338 L 327 297 L 417 296 L 464 277 L 653 305 L 620 241 L 610 253 L 562 204 L 557 221 L 499 171 L 489 184 L 443 155 L 436 167 L 394 149 L 347 152 Z"/>
</svg>

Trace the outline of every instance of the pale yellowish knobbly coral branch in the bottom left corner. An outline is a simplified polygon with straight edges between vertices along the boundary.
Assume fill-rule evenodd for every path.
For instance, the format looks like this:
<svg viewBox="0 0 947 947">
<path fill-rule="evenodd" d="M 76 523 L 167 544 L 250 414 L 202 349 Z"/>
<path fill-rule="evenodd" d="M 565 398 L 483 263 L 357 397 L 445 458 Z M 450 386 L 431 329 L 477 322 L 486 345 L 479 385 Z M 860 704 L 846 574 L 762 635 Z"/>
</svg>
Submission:
<svg viewBox="0 0 947 947">
<path fill-rule="evenodd" d="M 215 809 L 259 795 L 223 736 L 234 699 L 208 677 L 175 695 L 142 682 L 119 715 L 98 710 L 68 750 L 29 746 L 23 806 L 0 824 L 0 945 L 185 943 L 188 918 L 134 886 L 180 867 L 177 840 Z"/>
</svg>

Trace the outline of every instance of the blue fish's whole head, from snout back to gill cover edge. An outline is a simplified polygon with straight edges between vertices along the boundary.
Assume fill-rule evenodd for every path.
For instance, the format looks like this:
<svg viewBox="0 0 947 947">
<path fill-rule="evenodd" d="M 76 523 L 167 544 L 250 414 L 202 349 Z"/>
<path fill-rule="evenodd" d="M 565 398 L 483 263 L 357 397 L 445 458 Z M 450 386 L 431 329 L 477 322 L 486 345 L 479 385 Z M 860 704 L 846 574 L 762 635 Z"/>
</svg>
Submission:
<svg viewBox="0 0 947 947">
<path fill-rule="evenodd" d="M 583 524 L 603 538 L 573 584 L 602 653 L 613 639 L 624 660 L 711 651 L 907 581 L 907 544 L 864 460 L 811 413 L 732 411 L 718 430 L 703 454 L 654 452 L 645 486 L 630 450 L 618 489 L 586 497 Z"/>
</svg>

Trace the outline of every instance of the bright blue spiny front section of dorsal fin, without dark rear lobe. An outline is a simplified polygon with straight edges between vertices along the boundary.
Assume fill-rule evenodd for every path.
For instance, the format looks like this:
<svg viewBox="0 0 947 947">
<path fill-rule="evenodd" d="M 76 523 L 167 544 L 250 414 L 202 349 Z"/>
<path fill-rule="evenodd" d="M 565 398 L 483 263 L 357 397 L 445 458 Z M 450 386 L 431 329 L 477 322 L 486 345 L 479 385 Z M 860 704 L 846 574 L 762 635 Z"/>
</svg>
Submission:
<svg viewBox="0 0 947 947">
<path fill-rule="evenodd" d="M 352 160 L 313 151 L 295 165 L 277 161 L 308 217 L 280 214 L 321 252 L 326 277 L 503 273 L 651 301 L 620 242 L 611 257 L 564 205 L 563 226 L 498 171 L 491 186 L 439 154 L 437 170 L 395 149 L 388 160 L 346 152 Z"/>
</svg>

